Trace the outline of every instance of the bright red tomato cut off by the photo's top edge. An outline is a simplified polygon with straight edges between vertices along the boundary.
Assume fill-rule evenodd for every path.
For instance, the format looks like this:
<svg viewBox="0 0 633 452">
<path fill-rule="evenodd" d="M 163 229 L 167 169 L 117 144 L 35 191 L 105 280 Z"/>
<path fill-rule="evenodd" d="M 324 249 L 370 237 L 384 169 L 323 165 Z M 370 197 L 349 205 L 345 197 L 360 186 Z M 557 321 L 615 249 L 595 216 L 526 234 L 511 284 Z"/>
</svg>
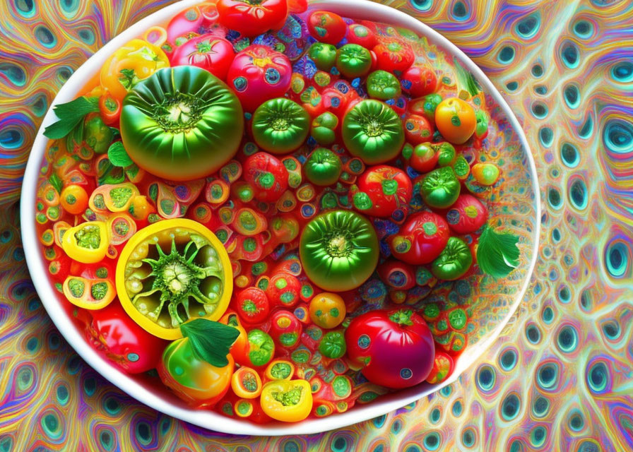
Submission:
<svg viewBox="0 0 633 452">
<path fill-rule="evenodd" d="M 283 27 L 287 0 L 218 0 L 219 22 L 241 35 L 252 37 Z"/>
</svg>

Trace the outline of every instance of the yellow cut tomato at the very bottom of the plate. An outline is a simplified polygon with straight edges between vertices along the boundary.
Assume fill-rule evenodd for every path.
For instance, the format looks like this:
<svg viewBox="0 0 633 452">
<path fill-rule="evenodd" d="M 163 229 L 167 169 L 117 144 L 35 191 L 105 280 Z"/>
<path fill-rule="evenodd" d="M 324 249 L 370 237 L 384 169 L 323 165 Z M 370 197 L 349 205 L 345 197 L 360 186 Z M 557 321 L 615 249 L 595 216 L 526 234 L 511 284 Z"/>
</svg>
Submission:
<svg viewBox="0 0 633 452">
<path fill-rule="evenodd" d="M 283 422 L 304 420 L 312 411 L 312 391 L 305 380 L 269 381 L 261 390 L 261 409 Z"/>
</svg>

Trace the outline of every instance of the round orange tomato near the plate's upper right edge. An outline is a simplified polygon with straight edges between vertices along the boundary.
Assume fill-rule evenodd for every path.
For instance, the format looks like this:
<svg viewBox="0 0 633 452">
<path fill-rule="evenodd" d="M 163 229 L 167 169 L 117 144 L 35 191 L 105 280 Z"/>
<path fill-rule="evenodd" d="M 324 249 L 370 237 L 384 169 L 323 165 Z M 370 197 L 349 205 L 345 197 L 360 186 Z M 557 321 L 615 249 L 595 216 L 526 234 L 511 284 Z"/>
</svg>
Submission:
<svg viewBox="0 0 633 452">
<path fill-rule="evenodd" d="M 435 126 L 447 141 L 466 143 L 477 126 L 475 109 L 459 97 L 444 99 L 435 108 Z"/>
</svg>

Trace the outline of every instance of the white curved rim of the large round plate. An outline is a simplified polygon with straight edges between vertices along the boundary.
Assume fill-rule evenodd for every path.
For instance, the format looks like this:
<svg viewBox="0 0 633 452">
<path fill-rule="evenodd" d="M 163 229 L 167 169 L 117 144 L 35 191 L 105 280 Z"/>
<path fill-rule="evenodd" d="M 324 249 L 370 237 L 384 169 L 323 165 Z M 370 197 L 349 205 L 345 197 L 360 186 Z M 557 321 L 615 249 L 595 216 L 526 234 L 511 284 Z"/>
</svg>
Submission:
<svg viewBox="0 0 633 452">
<path fill-rule="evenodd" d="M 519 122 L 516 120 L 514 114 L 511 112 L 511 109 L 503 100 L 502 96 L 497 92 L 490 80 L 488 80 L 488 78 L 478 68 L 478 66 L 473 63 L 473 61 L 468 59 L 461 50 L 455 47 L 454 44 L 451 44 L 451 42 L 446 40 L 446 38 L 427 27 L 427 25 L 420 23 L 417 19 L 408 16 L 406 13 L 390 8 L 389 6 L 372 3 L 366 0 L 316 0 L 311 2 L 310 8 L 327 9 L 329 11 L 339 13 L 341 16 L 377 20 L 391 25 L 406 27 L 415 31 L 420 36 L 427 37 L 431 44 L 442 47 L 442 49 L 445 49 L 449 52 L 449 54 L 453 55 L 464 68 L 473 73 L 483 88 L 483 91 L 490 95 L 492 100 L 499 105 L 502 110 L 502 116 L 504 116 L 505 120 L 509 123 L 509 128 L 512 129 L 513 133 L 516 133 L 516 142 L 519 143 L 519 152 L 523 155 L 522 161 L 523 165 L 525 165 L 524 170 L 526 172 L 526 179 L 529 180 L 531 185 L 530 189 L 533 206 L 530 215 L 530 224 L 532 227 L 528 234 L 528 239 L 526 239 L 526 242 L 529 242 L 530 246 L 528 246 L 528 249 L 525 251 L 528 251 L 529 256 L 525 256 L 526 253 L 523 253 L 524 259 L 522 261 L 521 268 L 518 269 L 521 271 L 522 275 L 521 282 L 517 285 L 518 288 L 516 293 L 513 295 L 513 299 L 505 307 L 502 318 L 497 319 L 493 328 L 489 328 L 489 331 L 487 331 L 477 343 L 468 346 L 466 352 L 457 359 L 456 369 L 451 377 L 439 385 L 429 385 L 423 383 L 419 386 L 408 388 L 405 391 L 377 398 L 377 400 L 374 400 L 372 403 L 357 405 L 348 412 L 338 415 L 331 415 L 329 417 L 319 419 L 309 419 L 295 424 L 273 423 L 267 425 L 257 425 L 242 420 L 227 418 L 207 410 L 191 410 L 187 407 L 187 405 L 182 403 L 181 400 L 173 396 L 166 389 L 163 390 L 161 388 L 158 390 L 143 381 L 138 381 L 138 379 L 134 376 L 120 371 L 106 359 L 102 358 L 93 349 L 93 347 L 85 341 L 83 333 L 78 331 L 69 316 L 66 315 L 66 311 L 61 309 L 56 291 L 47 277 L 47 266 L 40 251 L 40 243 L 35 231 L 35 194 L 37 178 L 40 174 L 40 167 L 44 160 L 45 149 L 48 141 L 42 132 L 46 126 L 52 124 L 56 119 L 54 113 L 52 112 L 52 107 L 54 107 L 54 105 L 73 100 L 78 91 L 83 88 L 85 81 L 90 80 L 90 78 L 92 78 L 95 73 L 100 70 L 105 60 L 110 57 L 110 54 L 123 44 L 135 37 L 140 37 L 143 32 L 151 26 L 165 23 L 179 11 L 199 3 L 199 0 L 183 0 L 177 4 L 167 6 L 166 8 L 163 8 L 132 25 L 130 28 L 105 44 L 102 49 L 90 57 L 90 59 L 88 59 L 88 61 L 86 61 L 85 64 L 73 73 L 68 81 L 66 81 L 57 97 L 55 97 L 52 102 L 51 107 L 42 122 L 40 131 L 38 131 L 37 136 L 35 137 L 35 143 L 33 143 L 28 165 L 26 167 L 21 196 L 22 204 L 20 206 L 20 218 L 22 224 L 23 245 L 26 261 L 28 263 L 33 283 L 35 284 L 35 289 L 37 290 L 38 295 L 40 295 L 42 304 L 44 304 L 44 307 L 47 309 L 49 316 L 59 329 L 60 333 L 64 335 L 64 338 L 68 340 L 78 354 L 85 359 L 91 367 L 96 369 L 100 374 L 102 374 L 102 376 L 105 376 L 106 379 L 111 381 L 115 386 L 121 388 L 130 396 L 136 398 L 142 403 L 145 403 L 146 405 L 149 405 L 155 410 L 177 417 L 178 419 L 191 422 L 191 424 L 196 424 L 200 427 L 205 427 L 218 432 L 232 434 L 271 436 L 325 432 L 327 430 L 345 427 L 350 424 L 355 424 L 356 422 L 362 422 L 384 415 L 387 412 L 401 408 L 404 405 L 408 405 L 409 403 L 412 403 L 429 393 L 437 391 L 439 388 L 449 385 L 457 379 L 464 369 L 473 364 L 473 362 L 476 361 L 485 349 L 495 341 L 499 333 L 502 331 L 502 328 L 507 324 L 512 314 L 514 314 L 514 311 L 521 302 L 521 299 L 523 299 L 530 275 L 536 263 L 536 247 L 538 246 L 538 237 L 540 232 L 540 201 L 538 196 L 536 167 L 528 148 L 526 137 L 521 130 Z"/>
</svg>

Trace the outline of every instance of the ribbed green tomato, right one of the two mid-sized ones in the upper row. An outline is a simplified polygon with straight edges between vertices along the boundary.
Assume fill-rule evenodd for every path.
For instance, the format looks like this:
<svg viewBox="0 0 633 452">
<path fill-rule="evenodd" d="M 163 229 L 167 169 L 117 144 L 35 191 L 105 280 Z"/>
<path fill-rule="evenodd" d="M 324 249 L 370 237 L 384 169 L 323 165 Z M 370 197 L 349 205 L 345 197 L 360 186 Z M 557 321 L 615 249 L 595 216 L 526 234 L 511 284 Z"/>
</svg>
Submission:
<svg viewBox="0 0 633 452">
<path fill-rule="evenodd" d="M 398 114 L 378 100 L 363 100 L 343 118 L 343 143 L 350 154 L 368 165 L 394 159 L 404 144 Z"/>
</svg>

